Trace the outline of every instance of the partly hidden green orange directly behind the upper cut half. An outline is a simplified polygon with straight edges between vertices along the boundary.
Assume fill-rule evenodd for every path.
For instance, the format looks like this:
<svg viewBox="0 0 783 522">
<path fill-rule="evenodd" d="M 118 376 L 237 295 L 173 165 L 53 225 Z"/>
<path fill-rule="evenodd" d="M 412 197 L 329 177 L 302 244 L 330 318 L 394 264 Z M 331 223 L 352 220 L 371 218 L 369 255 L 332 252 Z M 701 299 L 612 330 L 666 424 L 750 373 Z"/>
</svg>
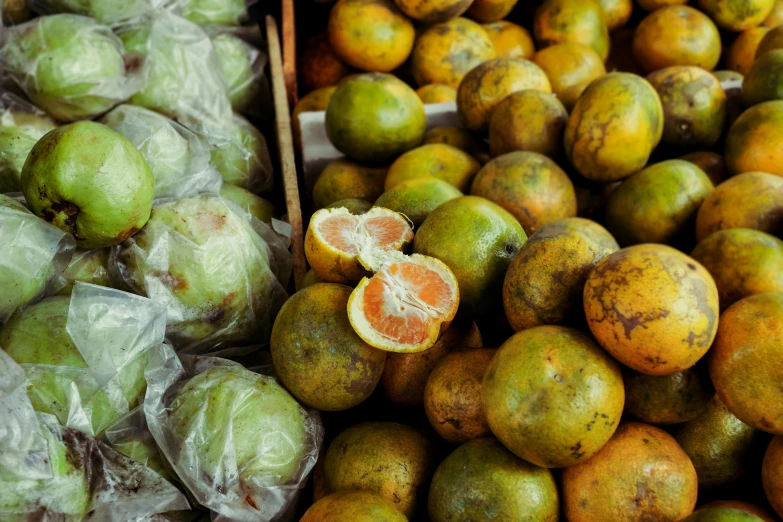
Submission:
<svg viewBox="0 0 783 522">
<path fill-rule="evenodd" d="M 458 188 L 441 179 L 411 179 L 384 192 L 375 201 L 375 206 L 404 214 L 416 228 L 430 212 L 460 196 L 462 192 Z"/>
</svg>

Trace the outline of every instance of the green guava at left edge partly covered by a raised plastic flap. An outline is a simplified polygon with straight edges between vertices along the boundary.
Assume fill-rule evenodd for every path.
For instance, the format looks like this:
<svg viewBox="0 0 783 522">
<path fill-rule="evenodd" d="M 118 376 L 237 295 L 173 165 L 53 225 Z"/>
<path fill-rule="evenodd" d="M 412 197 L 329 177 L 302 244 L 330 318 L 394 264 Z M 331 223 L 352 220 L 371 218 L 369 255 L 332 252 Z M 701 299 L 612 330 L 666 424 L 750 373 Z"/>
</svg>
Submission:
<svg viewBox="0 0 783 522">
<path fill-rule="evenodd" d="M 79 401 L 89 416 L 92 434 L 98 434 L 123 412 L 90 378 L 87 363 L 68 335 L 69 305 L 70 297 L 50 297 L 15 314 L 0 328 L 0 346 L 25 369 L 27 395 L 36 411 L 54 415 L 63 425 L 72 424 L 69 421 Z M 129 408 L 138 405 L 146 390 L 148 358 L 144 352 L 119 374 Z"/>
</svg>

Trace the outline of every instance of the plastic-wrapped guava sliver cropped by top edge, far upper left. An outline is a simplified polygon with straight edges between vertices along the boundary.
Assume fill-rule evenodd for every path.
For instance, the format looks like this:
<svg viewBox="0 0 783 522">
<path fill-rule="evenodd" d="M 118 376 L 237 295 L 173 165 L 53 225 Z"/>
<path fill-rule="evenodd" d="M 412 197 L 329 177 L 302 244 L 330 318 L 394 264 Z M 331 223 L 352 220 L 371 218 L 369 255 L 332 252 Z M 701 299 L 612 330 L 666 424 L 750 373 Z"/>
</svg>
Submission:
<svg viewBox="0 0 783 522">
<path fill-rule="evenodd" d="M 41 14 L 73 13 L 95 18 L 103 24 L 115 24 L 143 16 L 163 7 L 173 7 L 181 0 L 28 0 Z"/>
</svg>

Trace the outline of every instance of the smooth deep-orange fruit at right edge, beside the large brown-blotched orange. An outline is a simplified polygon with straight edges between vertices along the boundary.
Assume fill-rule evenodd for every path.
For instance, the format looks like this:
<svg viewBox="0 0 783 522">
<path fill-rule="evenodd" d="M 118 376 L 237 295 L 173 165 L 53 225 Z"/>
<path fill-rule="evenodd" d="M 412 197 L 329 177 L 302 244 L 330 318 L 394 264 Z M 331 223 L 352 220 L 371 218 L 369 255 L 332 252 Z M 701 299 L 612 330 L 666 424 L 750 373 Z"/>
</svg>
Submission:
<svg viewBox="0 0 783 522">
<path fill-rule="evenodd" d="M 746 297 L 720 317 L 708 362 L 718 397 L 742 422 L 783 433 L 783 293 Z"/>
</svg>

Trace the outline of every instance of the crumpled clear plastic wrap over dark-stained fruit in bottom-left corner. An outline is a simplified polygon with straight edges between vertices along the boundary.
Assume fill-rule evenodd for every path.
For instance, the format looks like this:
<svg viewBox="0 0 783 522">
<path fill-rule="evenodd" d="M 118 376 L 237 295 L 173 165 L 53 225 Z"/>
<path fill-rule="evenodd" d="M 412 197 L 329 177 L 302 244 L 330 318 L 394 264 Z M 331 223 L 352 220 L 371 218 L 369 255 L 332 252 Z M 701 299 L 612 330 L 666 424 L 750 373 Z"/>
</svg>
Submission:
<svg viewBox="0 0 783 522">
<path fill-rule="evenodd" d="M 0 350 L 0 520 L 125 522 L 189 507 L 150 468 L 38 413 Z"/>
</svg>

